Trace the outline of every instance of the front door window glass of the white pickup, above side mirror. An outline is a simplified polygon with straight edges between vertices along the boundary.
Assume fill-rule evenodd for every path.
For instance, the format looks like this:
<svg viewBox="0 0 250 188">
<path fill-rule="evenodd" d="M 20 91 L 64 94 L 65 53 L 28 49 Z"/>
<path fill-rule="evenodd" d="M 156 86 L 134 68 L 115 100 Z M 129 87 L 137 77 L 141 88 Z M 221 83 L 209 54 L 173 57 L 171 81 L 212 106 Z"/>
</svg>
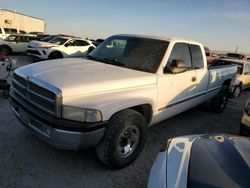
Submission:
<svg viewBox="0 0 250 188">
<path fill-rule="evenodd" d="M 171 66 L 173 60 L 183 60 L 188 69 L 192 68 L 191 56 L 188 44 L 176 43 L 168 59 L 168 66 Z"/>
</svg>

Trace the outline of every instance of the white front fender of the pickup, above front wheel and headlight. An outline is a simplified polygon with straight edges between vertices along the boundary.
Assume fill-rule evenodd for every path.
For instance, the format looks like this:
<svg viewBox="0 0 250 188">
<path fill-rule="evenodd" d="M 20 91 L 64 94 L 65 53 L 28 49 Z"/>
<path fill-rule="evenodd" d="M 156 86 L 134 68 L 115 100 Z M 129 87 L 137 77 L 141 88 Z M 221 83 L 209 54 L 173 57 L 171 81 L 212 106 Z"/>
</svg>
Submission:
<svg viewBox="0 0 250 188">
<path fill-rule="evenodd" d="M 151 85 L 87 96 L 66 97 L 63 98 L 63 105 L 100 110 L 103 121 L 107 121 L 116 112 L 143 104 L 150 104 L 154 112 L 156 100 L 157 88 Z"/>
</svg>

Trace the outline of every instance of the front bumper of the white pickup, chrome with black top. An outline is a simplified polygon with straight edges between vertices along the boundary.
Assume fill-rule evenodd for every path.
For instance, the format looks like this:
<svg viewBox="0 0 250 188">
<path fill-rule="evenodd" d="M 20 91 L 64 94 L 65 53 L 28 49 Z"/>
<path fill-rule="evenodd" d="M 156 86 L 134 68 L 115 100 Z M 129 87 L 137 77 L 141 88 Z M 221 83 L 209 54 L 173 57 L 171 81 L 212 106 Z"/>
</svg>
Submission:
<svg viewBox="0 0 250 188">
<path fill-rule="evenodd" d="M 46 143 L 60 149 L 79 150 L 98 144 L 105 132 L 105 124 L 77 123 L 68 120 L 54 120 L 43 116 L 37 110 L 26 108 L 13 96 L 10 99 L 12 110 L 20 122 Z M 72 124 L 72 126 L 70 126 Z"/>
</svg>

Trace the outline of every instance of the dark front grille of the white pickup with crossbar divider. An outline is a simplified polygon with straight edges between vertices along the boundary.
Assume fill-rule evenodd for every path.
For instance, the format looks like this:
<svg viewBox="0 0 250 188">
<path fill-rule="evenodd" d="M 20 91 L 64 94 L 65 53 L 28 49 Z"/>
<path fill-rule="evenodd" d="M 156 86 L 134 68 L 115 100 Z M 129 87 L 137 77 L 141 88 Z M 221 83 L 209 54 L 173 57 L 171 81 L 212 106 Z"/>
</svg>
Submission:
<svg viewBox="0 0 250 188">
<path fill-rule="evenodd" d="M 57 92 L 54 92 L 40 84 L 37 84 L 34 79 L 25 79 L 16 73 L 13 74 L 12 87 L 15 95 L 49 114 L 59 116 L 60 96 L 58 96 L 58 89 Z"/>
</svg>

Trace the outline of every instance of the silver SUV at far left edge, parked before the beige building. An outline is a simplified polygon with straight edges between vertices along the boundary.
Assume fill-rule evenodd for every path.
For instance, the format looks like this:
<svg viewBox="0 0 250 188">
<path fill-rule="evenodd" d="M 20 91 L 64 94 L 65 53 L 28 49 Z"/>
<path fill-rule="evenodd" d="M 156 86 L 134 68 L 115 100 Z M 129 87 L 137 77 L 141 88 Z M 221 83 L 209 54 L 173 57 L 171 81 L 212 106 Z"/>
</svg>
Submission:
<svg viewBox="0 0 250 188">
<path fill-rule="evenodd" d="M 29 42 L 36 39 L 33 35 L 12 34 L 4 40 L 0 40 L 0 49 L 7 55 L 12 52 L 26 52 Z"/>
</svg>

